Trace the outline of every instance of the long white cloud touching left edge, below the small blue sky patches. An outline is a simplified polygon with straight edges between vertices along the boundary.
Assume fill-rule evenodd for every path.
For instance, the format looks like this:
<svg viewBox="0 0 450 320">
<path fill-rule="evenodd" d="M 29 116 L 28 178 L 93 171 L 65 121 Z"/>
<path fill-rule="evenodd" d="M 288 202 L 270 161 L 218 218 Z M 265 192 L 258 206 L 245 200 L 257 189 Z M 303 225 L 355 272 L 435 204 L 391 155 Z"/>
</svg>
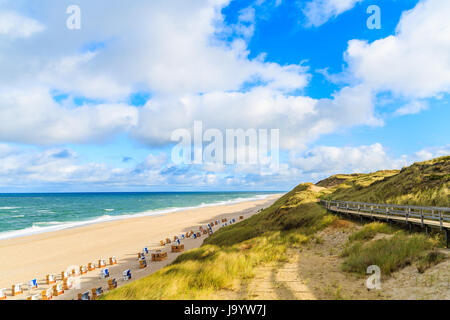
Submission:
<svg viewBox="0 0 450 320">
<path fill-rule="evenodd" d="M 129 130 L 138 112 L 124 104 L 60 106 L 46 88 L 0 89 L 0 141 L 95 142 Z"/>
</svg>

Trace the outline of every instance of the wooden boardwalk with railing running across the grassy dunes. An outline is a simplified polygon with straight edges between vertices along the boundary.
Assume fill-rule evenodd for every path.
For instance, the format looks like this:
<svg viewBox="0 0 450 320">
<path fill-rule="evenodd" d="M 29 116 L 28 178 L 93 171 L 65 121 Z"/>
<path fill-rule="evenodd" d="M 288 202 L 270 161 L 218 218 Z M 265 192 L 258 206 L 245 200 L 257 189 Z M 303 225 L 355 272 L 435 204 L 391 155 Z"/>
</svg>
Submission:
<svg viewBox="0 0 450 320">
<path fill-rule="evenodd" d="M 418 225 L 428 233 L 430 228 L 445 232 L 447 248 L 450 242 L 450 208 L 402 206 L 395 204 L 378 204 L 352 201 L 321 200 L 329 211 L 359 216 L 361 219 L 370 218 L 389 223 L 397 222 Z"/>
</svg>

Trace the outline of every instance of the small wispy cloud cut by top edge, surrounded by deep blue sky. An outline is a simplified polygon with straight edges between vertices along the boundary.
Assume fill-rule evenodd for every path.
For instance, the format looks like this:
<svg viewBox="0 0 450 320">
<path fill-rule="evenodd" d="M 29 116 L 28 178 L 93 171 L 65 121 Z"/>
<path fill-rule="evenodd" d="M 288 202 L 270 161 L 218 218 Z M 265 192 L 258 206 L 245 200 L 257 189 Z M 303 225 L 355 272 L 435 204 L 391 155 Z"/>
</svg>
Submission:
<svg viewBox="0 0 450 320">
<path fill-rule="evenodd" d="M 312 0 L 303 8 L 306 16 L 306 26 L 318 27 L 332 18 L 352 9 L 363 0 Z"/>
</svg>

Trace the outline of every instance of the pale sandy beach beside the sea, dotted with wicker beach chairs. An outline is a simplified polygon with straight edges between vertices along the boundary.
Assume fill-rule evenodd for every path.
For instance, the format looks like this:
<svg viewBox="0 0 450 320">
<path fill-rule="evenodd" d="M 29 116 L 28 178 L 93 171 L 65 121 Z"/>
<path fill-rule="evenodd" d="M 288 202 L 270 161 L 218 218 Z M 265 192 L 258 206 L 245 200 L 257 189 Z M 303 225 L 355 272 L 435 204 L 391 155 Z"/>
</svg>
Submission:
<svg viewBox="0 0 450 320">
<path fill-rule="evenodd" d="M 281 195 L 271 195 L 264 200 L 247 201 L 231 205 L 211 206 L 178 211 L 158 216 L 130 218 L 103 222 L 89 226 L 31 235 L 0 241 L 0 288 L 7 288 L 7 299 L 26 299 L 30 294 L 40 293 L 48 288 L 47 274 L 55 274 L 61 282 L 61 272 L 69 266 L 87 265 L 99 259 L 108 260 L 115 256 L 118 264 L 110 267 L 111 278 L 124 284 L 122 272 L 131 269 L 132 279 L 139 279 L 171 263 L 178 254 L 169 253 L 162 262 L 149 262 L 145 269 L 139 269 L 137 254 L 144 247 L 149 250 L 170 251 L 170 246 L 161 247 L 160 240 L 173 238 L 189 230 L 198 230 L 201 225 L 221 218 L 248 218 L 259 209 L 270 206 Z M 215 227 L 213 230 L 218 230 Z M 186 250 L 199 247 L 205 236 L 187 239 L 183 243 Z M 148 261 L 150 259 L 147 259 Z M 99 270 L 88 272 L 81 277 L 81 288 L 66 291 L 54 299 L 73 299 L 78 292 L 102 286 L 107 289 L 107 280 L 100 279 Z M 39 289 L 12 297 L 11 286 L 38 279 Z"/>
</svg>

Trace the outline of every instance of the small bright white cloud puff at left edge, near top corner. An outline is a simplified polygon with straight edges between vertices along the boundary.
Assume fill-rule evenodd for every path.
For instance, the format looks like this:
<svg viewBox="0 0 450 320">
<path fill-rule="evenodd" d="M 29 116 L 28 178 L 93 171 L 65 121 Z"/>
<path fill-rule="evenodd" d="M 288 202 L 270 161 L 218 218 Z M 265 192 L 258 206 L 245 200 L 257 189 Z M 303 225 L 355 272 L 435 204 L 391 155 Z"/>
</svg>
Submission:
<svg viewBox="0 0 450 320">
<path fill-rule="evenodd" d="M 14 11 L 0 10 L 0 36 L 7 36 L 11 39 L 28 38 L 44 29 L 44 25 L 34 19 Z"/>
</svg>

